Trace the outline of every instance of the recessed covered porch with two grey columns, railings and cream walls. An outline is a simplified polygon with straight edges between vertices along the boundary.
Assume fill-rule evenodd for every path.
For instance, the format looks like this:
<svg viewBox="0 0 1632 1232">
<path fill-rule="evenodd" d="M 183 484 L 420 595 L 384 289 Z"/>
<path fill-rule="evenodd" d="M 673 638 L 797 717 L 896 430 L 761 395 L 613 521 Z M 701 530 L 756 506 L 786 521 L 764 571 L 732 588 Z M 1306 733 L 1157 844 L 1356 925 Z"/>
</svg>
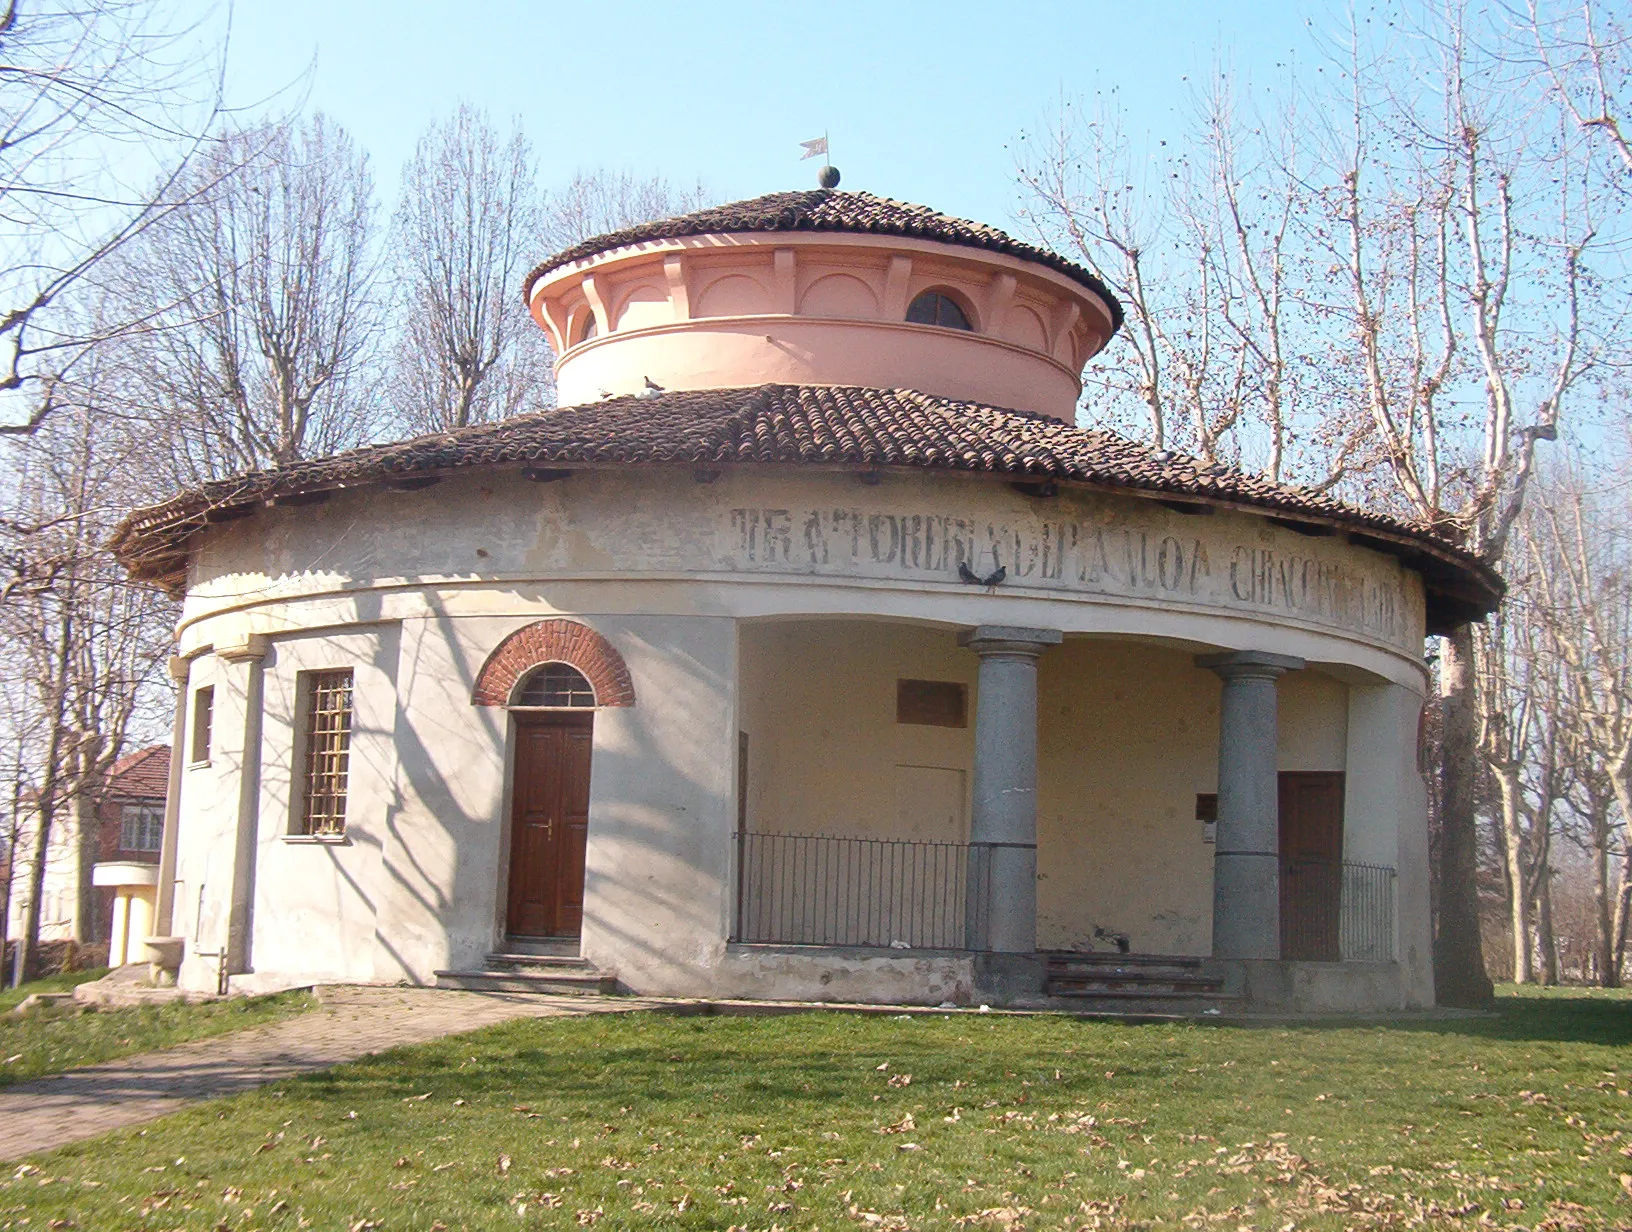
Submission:
<svg viewBox="0 0 1632 1232">
<path fill-rule="evenodd" d="M 978 999 L 1118 969 L 1374 997 L 1397 968 L 1400 778 L 1366 770 L 1399 687 L 1340 676 L 1154 638 L 744 623 L 731 950 L 837 964 L 840 986 L 963 961 Z"/>
</svg>

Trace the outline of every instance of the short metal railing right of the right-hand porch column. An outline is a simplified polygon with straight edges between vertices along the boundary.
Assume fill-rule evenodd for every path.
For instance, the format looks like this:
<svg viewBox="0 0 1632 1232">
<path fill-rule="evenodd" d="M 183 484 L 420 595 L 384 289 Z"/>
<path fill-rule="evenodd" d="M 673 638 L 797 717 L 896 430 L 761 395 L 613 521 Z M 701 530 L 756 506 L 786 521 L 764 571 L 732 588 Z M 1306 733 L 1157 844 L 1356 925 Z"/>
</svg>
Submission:
<svg viewBox="0 0 1632 1232">
<path fill-rule="evenodd" d="M 1281 958 L 1392 961 L 1394 870 L 1283 857 Z"/>
</svg>

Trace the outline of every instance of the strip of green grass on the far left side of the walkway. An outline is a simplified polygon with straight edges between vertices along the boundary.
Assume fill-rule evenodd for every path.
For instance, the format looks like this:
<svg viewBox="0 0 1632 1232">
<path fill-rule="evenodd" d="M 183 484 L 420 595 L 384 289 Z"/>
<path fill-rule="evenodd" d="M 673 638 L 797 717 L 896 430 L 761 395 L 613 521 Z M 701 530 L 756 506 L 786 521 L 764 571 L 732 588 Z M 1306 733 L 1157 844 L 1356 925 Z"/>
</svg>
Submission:
<svg viewBox="0 0 1632 1232">
<path fill-rule="evenodd" d="M 106 973 L 47 976 L 7 989 L 0 1012 L 11 1008 L 31 992 L 65 992 L 75 984 Z M 304 992 L 255 997 L 202 1005 L 142 1005 L 127 1010 L 95 1010 L 78 1007 L 42 1010 L 21 1018 L 0 1018 L 0 1090 L 15 1082 L 60 1074 L 78 1066 L 95 1066 L 129 1053 L 170 1048 L 188 1039 L 202 1039 L 242 1026 L 258 1026 L 290 1013 L 300 1013 L 317 1002 Z"/>
</svg>

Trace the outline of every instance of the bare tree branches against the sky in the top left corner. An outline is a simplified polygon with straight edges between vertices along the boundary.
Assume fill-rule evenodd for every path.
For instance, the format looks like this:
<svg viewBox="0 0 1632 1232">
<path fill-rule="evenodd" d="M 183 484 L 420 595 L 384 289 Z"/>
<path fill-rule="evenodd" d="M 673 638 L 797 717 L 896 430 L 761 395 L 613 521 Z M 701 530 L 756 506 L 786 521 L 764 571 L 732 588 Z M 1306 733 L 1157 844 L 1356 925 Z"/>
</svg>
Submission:
<svg viewBox="0 0 1632 1232">
<path fill-rule="evenodd" d="M 222 41 L 145 0 L 0 0 L 0 392 L 28 434 L 98 331 L 69 308 L 109 256 L 186 204 L 222 114 Z"/>
</svg>

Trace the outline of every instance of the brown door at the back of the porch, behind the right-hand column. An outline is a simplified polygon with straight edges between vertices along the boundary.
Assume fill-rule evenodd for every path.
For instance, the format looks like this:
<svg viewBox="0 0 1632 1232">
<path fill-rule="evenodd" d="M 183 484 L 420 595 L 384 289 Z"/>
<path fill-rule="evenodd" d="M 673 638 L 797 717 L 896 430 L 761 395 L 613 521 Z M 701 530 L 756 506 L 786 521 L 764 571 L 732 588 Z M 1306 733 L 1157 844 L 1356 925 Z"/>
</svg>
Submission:
<svg viewBox="0 0 1632 1232">
<path fill-rule="evenodd" d="M 1286 770 L 1281 809 L 1281 958 L 1337 963 L 1343 896 L 1343 773 Z"/>
</svg>

